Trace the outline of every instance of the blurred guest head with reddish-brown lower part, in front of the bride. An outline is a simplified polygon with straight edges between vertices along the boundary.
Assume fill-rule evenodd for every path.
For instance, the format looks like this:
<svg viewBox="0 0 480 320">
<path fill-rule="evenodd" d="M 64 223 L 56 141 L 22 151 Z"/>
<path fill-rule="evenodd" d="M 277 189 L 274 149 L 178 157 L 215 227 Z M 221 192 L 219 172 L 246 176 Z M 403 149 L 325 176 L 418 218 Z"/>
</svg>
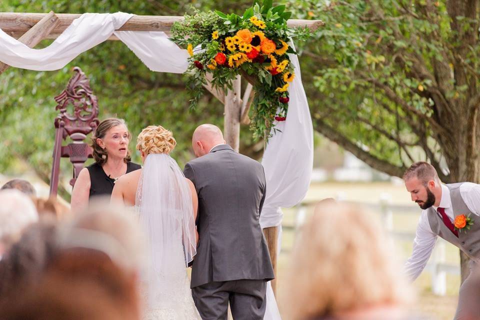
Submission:
<svg viewBox="0 0 480 320">
<path fill-rule="evenodd" d="M 137 273 L 143 242 L 137 223 L 123 210 L 97 200 L 67 221 L 48 274 L 99 286 L 124 316 L 135 318 L 140 313 Z"/>
</svg>

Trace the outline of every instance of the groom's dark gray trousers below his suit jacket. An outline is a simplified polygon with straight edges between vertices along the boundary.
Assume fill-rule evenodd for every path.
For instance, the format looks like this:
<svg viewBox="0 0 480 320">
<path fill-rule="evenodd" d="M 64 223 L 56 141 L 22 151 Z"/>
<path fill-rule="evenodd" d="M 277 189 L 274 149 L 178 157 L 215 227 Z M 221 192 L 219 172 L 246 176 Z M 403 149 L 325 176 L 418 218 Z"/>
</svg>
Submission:
<svg viewBox="0 0 480 320">
<path fill-rule="evenodd" d="M 209 282 L 191 289 L 202 320 L 226 320 L 228 302 L 234 320 L 262 320 L 266 307 L 265 280 Z"/>
</svg>

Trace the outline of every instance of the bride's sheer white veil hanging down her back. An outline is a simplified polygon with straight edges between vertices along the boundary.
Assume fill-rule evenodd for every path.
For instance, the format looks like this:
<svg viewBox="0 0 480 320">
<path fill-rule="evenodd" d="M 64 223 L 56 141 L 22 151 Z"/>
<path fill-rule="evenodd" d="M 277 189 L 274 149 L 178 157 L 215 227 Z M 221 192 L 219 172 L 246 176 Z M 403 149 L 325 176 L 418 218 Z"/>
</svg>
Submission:
<svg viewBox="0 0 480 320">
<path fill-rule="evenodd" d="M 165 285 L 174 285 L 169 283 L 168 275 L 184 272 L 196 253 L 190 188 L 178 164 L 168 154 L 146 156 L 135 206 L 150 258 L 141 278 L 147 282 L 148 296 L 157 299 Z"/>
</svg>

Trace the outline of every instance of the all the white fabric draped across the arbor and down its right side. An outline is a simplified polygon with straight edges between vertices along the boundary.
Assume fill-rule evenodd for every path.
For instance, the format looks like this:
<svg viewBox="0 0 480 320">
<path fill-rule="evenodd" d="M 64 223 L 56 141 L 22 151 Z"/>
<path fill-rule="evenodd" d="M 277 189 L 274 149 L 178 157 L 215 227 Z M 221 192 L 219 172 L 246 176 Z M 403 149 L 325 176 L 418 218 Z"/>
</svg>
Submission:
<svg viewBox="0 0 480 320">
<path fill-rule="evenodd" d="M 49 46 L 32 49 L 0 29 L 0 61 L 17 68 L 57 70 L 80 53 L 115 34 L 152 71 L 182 73 L 188 53 L 163 32 L 115 31 L 133 14 L 84 13 L 75 19 Z M 301 83 L 296 55 L 290 55 L 295 78 L 289 86 L 290 101 L 286 121 L 276 123 L 277 132 L 268 141 L 262 164 L 267 194 L 260 216 L 262 227 L 281 223 L 280 207 L 290 207 L 304 197 L 313 163 L 313 130 L 306 95 Z M 280 318 L 271 290 L 267 286 L 265 319 Z"/>
</svg>

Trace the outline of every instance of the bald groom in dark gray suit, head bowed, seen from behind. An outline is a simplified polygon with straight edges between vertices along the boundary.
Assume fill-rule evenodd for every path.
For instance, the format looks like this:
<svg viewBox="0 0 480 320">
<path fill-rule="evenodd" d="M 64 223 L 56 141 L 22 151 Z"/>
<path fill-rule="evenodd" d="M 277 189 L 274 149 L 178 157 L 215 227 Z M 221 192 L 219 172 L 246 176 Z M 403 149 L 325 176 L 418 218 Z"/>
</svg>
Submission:
<svg viewBox="0 0 480 320">
<path fill-rule="evenodd" d="M 263 167 L 225 144 L 212 124 L 195 129 L 192 147 L 197 158 L 183 172 L 198 194 L 193 301 L 203 320 L 226 320 L 228 302 L 234 319 L 263 319 L 266 281 L 274 277 L 258 222 L 265 199 Z"/>
</svg>

